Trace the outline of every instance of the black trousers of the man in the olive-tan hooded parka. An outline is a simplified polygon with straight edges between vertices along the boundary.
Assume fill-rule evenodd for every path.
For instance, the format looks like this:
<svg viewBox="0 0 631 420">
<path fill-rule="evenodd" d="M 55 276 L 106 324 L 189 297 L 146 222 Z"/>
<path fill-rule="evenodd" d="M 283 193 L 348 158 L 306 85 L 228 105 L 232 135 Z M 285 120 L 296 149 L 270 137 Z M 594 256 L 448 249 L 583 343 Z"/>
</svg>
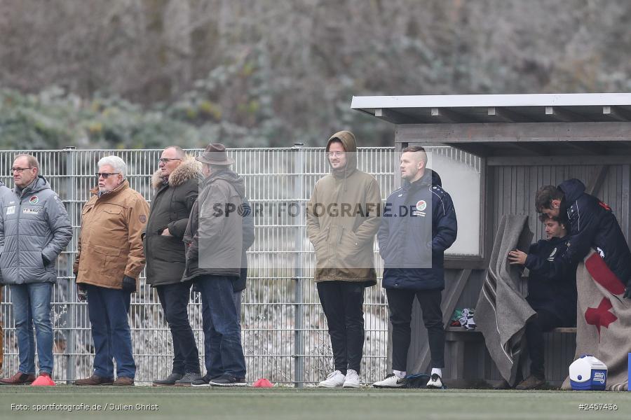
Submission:
<svg viewBox="0 0 631 420">
<path fill-rule="evenodd" d="M 364 350 L 364 283 L 320 281 L 317 286 L 329 325 L 335 370 L 359 373 Z"/>
</svg>

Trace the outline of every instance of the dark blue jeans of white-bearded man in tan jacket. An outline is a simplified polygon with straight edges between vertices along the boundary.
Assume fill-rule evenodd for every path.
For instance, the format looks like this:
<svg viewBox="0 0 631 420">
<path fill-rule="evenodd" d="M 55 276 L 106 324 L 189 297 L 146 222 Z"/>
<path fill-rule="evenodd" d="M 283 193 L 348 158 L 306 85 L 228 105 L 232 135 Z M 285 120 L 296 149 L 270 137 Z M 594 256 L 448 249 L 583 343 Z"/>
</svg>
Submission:
<svg viewBox="0 0 631 420">
<path fill-rule="evenodd" d="M 94 374 L 100 377 L 134 378 L 136 364 L 131 344 L 128 312 L 131 294 L 88 284 L 88 314 L 94 341 Z"/>
</svg>

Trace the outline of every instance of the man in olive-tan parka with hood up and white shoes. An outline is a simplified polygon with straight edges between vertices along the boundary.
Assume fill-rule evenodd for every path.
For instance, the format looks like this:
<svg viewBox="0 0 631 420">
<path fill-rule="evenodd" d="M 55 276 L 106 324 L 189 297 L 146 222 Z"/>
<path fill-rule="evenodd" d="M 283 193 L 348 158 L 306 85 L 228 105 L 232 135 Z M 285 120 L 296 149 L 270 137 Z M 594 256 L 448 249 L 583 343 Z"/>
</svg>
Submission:
<svg viewBox="0 0 631 420">
<path fill-rule="evenodd" d="M 313 188 L 307 233 L 315 248 L 315 282 L 329 325 L 334 371 L 318 386 L 356 388 L 364 345 L 364 288 L 376 283 L 374 235 L 381 193 L 357 169 L 355 136 L 337 132 L 327 142 L 332 172 Z"/>
</svg>

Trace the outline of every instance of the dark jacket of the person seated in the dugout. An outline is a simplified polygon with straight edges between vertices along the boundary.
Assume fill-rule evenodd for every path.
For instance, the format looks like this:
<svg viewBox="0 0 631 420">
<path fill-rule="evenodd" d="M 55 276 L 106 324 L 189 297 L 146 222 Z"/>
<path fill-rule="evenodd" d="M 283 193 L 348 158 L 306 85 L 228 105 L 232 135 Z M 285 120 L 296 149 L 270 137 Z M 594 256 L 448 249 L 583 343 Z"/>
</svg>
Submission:
<svg viewBox="0 0 631 420">
<path fill-rule="evenodd" d="M 528 250 L 526 300 L 534 309 L 555 314 L 566 327 L 576 325 L 576 264 L 563 258 L 567 237 L 541 239 Z"/>
</svg>

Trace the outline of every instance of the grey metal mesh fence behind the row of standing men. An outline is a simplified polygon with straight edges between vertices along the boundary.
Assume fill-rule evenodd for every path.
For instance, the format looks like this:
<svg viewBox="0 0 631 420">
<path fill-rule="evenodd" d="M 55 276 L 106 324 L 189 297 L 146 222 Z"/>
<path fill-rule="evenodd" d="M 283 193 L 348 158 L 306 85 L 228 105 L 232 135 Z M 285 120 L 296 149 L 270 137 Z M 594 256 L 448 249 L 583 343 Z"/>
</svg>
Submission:
<svg viewBox="0 0 631 420">
<path fill-rule="evenodd" d="M 445 149 L 445 150 L 442 150 Z M 448 148 L 436 148 L 447 153 Z M 72 275 L 76 238 L 81 224 L 81 207 L 95 185 L 97 161 L 105 155 L 118 155 L 128 164 L 131 188 L 151 200 L 151 174 L 157 169 L 161 150 L 76 150 L 25 151 L 41 164 L 41 174 L 65 203 L 74 228 L 74 237 L 57 261 L 58 279 L 53 294 L 51 316 L 55 334 L 57 381 L 72 381 L 92 374 L 94 349 L 90 335 L 87 304 L 77 302 Z M 189 151 L 196 153 L 197 151 Z M 0 151 L 0 180 L 13 181 L 9 169 L 17 151 Z M 304 206 L 311 189 L 327 174 L 323 148 L 233 149 L 234 169 L 245 176 L 246 195 L 252 206 L 278 203 Z M 452 156 L 452 158 L 454 158 Z M 454 159 L 470 165 L 470 155 Z M 382 199 L 393 190 L 396 158 L 393 148 L 360 148 L 358 167 L 373 174 L 381 187 Z M 248 251 L 248 281 L 243 293 L 243 349 L 247 381 L 266 377 L 285 384 L 311 384 L 332 371 L 332 351 L 327 325 L 313 282 L 314 256 L 306 236 L 304 213 L 299 217 L 276 217 L 255 213 L 256 240 Z M 272 261 L 272 263 L 270 263 Z M 381 258 L 375 246 L 379 276 L 375 287 L 365 293 L 365 345 L 362 381 L 372 382 L 388 371 L 388 310 L 381 288 Z M 4 290 L 1 317 L 4 321 L 4 374 L 18 370 L 18 349 L 9 290 Z M 148 384 L 171 370 L 172 339 L 154 289 L 144 284 L 132 297 L 130 326 L 136 381 Z M 191 292 L 189 319 L 194 329 L 200 363 L 203 367 L 201 300 Z"/>
</svg>

